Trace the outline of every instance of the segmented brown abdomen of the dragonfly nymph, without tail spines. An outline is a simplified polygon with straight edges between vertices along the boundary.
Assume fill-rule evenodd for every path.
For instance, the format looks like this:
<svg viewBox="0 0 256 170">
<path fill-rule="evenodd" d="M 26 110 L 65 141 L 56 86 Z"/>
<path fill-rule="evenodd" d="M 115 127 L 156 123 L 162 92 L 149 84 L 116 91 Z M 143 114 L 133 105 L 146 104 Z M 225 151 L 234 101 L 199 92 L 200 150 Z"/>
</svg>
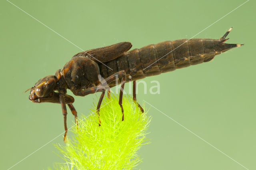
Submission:
<svg viewBox="0 0 256 170">
<path fill-rule="evenodd" d="M 127 74 L 126 81 L 132 81 L 207 62 L 215 56 L 213 41 L 180 39 L 150 44 L 106 62 L 105 64 L 113 70 L 99 64 L 100 73 L 106 78 L 124 70 Z"/>
</svg>

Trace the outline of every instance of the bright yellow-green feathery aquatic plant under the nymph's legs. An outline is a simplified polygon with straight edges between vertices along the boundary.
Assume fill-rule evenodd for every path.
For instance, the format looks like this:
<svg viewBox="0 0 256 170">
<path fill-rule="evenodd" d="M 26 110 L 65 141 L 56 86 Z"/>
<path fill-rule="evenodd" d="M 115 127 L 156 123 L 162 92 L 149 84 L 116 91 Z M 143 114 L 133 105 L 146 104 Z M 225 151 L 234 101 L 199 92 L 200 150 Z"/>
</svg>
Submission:
<svg viewBox="0 0 256 170">
<path fill-rule="evenodd" d="M 98 126 L 96 106 L 86 117 L 81 116 L 79 128 L 66 144 L 56 145 L 66 163 L 58 169 L 134 169 L 142 162 L 138 149 L 148 144 L 146 134 L 151 118 L 141 111 L 130 96 L 124 96 L 124 121 L 118 97 L 105 98 L 100 108 Z"/>
</svg>

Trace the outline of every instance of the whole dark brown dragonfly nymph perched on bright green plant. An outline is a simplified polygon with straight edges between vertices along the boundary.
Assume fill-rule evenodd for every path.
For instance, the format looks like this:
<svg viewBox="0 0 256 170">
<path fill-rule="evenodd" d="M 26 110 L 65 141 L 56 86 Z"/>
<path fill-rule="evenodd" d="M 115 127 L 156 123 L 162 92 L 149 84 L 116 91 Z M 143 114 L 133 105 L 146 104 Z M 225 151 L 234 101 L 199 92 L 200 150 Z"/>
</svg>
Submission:
<svg viewBox="0 0 256 170">
<path fill-rule="evenodd" d="M 97 114 L 100 116 L 100 105 L 106 91 L 106 85 L 114 87 L 116 85 L 115 80 L 118 79 L 118 83 L 121 83 L 119 105 L 123 121 L 122 95 L 125 82 L 133 81 L 133 99 L 136 102 L 136 80 L 208 62 L 215 55 L 243 45 L 224 43 L 228 40 L 225 38 L 231 29 L 220 39 L 196 38 L 166 41 L 131 51 L 128 51 L 132 47 L 130 42 L 121 42 L 78 53 L 62 69 L 58 69 L 55 75 L 40 79 L 31 88 L 29 99 L 34 103 L 61 104 L 64 116 L 65 141 L 68 130 L 66 104 L 75 116 L 77 123 L 77 113 L 72 105 L 74 98 L 66 94 L 66 89 L 70 89 L 77 96 L 102 92 L 97 105 Z M 104 83 L 100 81 L 99 77 L 104 78 Z M 138 107 L 140 107 L 139 104 Z M 142 107 L 140 109 L 143 113 Z"/>
</svg>

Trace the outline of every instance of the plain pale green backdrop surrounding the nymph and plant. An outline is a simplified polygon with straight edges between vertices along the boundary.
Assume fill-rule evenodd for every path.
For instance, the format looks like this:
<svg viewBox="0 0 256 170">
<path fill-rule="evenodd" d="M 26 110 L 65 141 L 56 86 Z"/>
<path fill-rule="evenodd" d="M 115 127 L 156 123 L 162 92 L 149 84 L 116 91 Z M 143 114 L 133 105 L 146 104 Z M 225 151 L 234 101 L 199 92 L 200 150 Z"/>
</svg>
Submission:
<svg viewBox="0 0 256 170">
<path fill-rule="evenodd" d="M 245 0 L 51 1 L 12 0 L 22 10 L 84 50 L 122 41 L 133 48 L 191 38 Z M 160 82 L 160 94 L 143 99 L 248 169 L 256 169 L 255 1 L 250 0 L 195 38 L 220 38 L 231 26 L 228 43 L 243 47 L 211 62 L 144 79 Z M 0 169 L 7 169 L 64 131 L 60 105 L 28 100 L 38 79 L 52 75 L 81 50 L 8 1 L 0 2 L 1 115 Z M 126 85 L 127 86 L 127 85 Z M 69 91 L 68 94 L 71 94 Z M 99 96 L 99 94 L 97 94 Z M 79 115 L 88 115 L 96 95 L 75 97 Z M 142 170 L 244 169 L 156 109 L 150 109 L 151 144 L 139 153 Z M 68 127 L 74 117 L 68 112 Z M 71 136 L 72 133 L 68 132 Z M 35 170 L 63 162 L 53 144 L 14 166 Z"/>
</svg>

